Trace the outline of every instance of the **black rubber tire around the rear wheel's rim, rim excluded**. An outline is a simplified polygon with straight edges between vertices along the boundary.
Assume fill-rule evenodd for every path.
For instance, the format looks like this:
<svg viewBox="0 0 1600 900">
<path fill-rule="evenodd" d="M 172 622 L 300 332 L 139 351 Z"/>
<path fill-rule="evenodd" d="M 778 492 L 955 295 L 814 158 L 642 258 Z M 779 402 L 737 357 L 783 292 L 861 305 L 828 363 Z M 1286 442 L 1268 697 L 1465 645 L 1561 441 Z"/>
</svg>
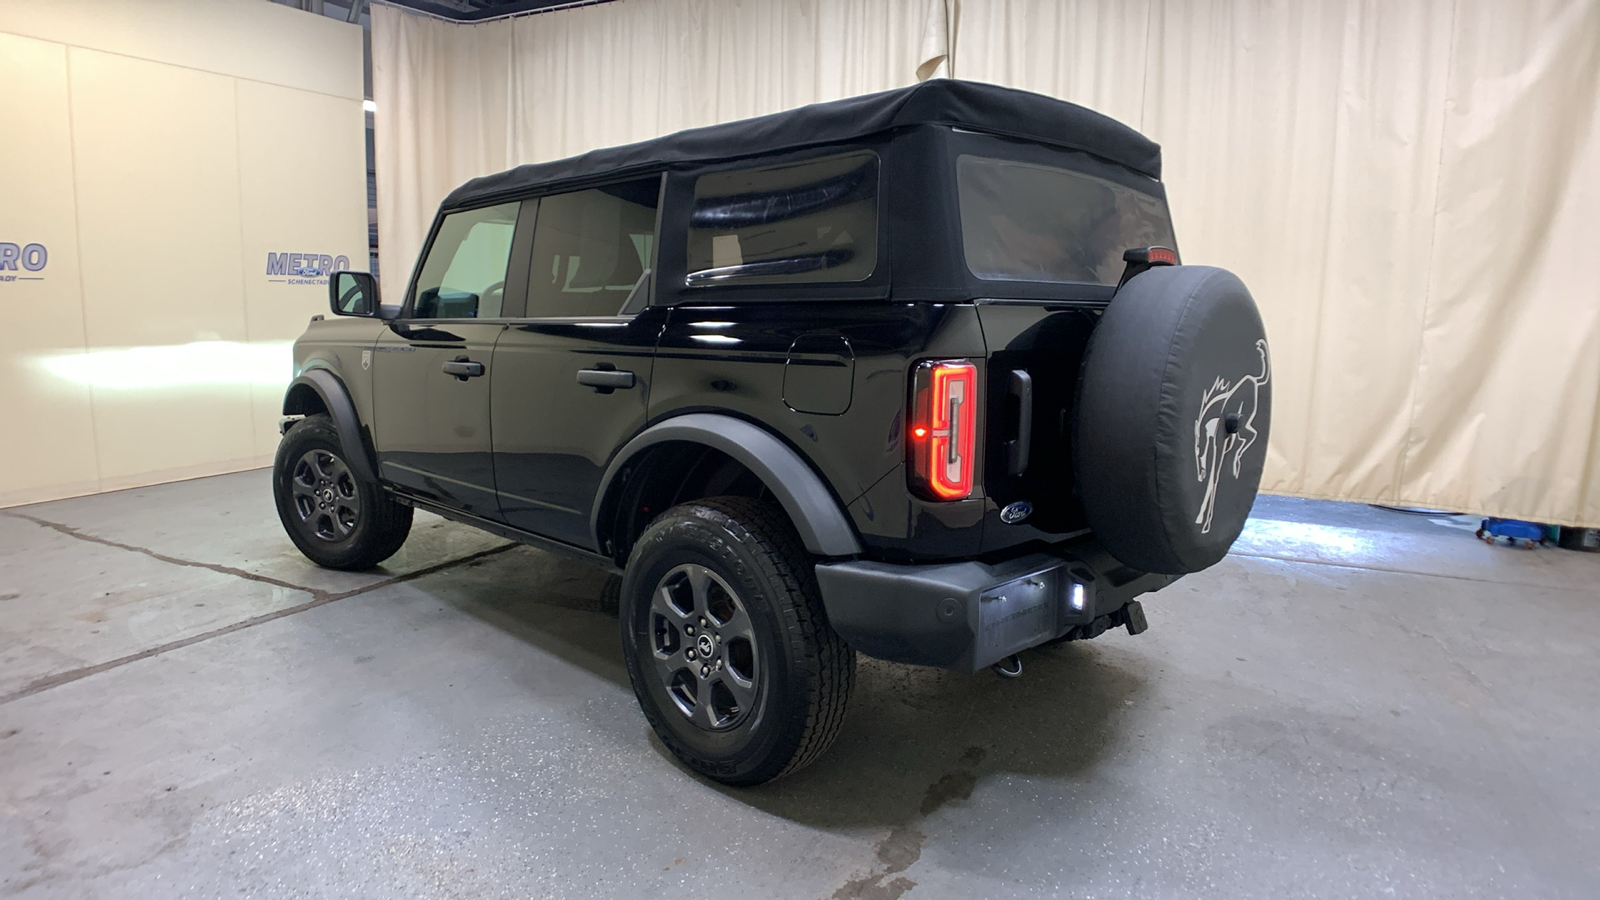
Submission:
<svg viewBox="0 0 1600 900">
<path fill-rule="evenodd" d="M 757 698 L 726 730 L 699 727 L 658 674 L 651 602 L 683 565 L 709 569 L 738 594 L 752 625 Z M 638 706 L 690 769 L 725 785 L 795 772 L 838 737 L 856 684 L 856 655 L 827 623 L 813 562 L 781 511 L 718 496 L 675 506 L 645 528 L 622 578 L 619 626 Z"/>
</svg>

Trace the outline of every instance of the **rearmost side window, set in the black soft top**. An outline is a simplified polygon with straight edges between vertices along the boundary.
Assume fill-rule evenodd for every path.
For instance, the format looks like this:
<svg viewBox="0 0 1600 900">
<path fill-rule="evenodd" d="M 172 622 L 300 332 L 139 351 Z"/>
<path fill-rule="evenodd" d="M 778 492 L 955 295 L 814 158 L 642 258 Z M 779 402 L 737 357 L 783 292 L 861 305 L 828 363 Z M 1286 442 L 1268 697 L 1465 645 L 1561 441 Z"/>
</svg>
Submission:
<svg viewBox="0 0 1600 900">
<path fill-rule="evenodd" d="M 878 264 L 870 151 L 702 175 L 690 211 L 690 287 L 859 282 Z"/>
</svg>

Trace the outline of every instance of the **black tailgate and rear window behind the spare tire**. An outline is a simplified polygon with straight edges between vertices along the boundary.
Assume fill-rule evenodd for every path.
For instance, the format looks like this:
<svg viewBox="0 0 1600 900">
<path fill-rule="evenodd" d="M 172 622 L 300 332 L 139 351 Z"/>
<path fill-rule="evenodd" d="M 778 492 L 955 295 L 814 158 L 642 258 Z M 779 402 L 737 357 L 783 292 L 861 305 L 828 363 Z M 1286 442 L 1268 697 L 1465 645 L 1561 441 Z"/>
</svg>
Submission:
<svg viewBox="0 0 1600 900">
<path fill-rule="evenodd" d="M 1059 540 L 1086 527 L 1070 442 L 1083 352 L 1123 251 L 1176 247 L 1165 192 L 1086 154 L 984 135 L 952 146 L 963 263 L 987 295 L 984 549 Z M 1032 512 L 1006 522 L 1013 503 Z"/>
</svg>

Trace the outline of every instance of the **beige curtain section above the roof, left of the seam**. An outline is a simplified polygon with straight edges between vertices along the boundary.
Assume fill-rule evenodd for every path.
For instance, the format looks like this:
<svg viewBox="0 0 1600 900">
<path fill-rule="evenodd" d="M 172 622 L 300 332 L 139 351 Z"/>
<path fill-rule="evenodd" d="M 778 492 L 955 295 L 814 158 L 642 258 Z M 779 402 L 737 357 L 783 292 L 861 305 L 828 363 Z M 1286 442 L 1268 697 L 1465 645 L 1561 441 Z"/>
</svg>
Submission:
<svg viewBox="0 0 1600 900">
<path fill-rule="evenodd" d="M 942 75 L 947 32 L 946 0 L 618 0 L 475 26 L 374 5 L 384 291 L 469 178 Z"/>
</svg>

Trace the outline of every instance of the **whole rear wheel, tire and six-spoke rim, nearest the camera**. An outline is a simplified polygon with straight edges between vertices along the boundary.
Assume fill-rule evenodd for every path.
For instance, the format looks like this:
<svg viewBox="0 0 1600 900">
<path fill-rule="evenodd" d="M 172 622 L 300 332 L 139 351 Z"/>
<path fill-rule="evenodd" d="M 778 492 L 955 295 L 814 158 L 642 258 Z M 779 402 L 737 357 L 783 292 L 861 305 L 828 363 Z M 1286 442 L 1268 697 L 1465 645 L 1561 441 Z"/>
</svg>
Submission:
<svg viewBox="0 0 1600 900">
<path fill-rule="evenodd" d="M 771 506 L 722 496 L 662 512 L 634 544 L 619 613 L 638 705 L 696 772 L 758 785 L 838 737 L 856 657 Z"/>
</svg>

